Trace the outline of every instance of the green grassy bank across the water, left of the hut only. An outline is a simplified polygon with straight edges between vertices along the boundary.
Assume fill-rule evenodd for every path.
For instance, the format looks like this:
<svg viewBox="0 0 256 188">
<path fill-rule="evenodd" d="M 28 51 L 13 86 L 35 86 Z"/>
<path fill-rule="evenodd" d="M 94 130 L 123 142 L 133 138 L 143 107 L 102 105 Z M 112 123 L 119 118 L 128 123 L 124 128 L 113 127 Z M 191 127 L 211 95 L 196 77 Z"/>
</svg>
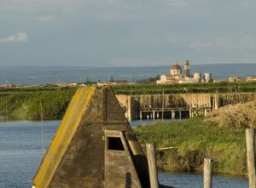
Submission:
<svg viewBox="0 0 256 188">
<path fill-rule="evenodd" d="M 0 116 L 12 119 L 40 119 L 41 104 L 44 119 L 60 119 L 76 88 L 31 87 L 1 88 Z"/>
</svg>

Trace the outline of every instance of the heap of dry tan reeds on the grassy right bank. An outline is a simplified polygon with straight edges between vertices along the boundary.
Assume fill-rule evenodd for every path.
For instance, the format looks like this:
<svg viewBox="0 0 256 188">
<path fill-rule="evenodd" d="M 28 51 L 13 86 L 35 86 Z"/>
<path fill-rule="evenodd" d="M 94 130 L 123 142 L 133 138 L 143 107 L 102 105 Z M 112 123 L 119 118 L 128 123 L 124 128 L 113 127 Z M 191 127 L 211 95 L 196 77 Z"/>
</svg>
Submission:
<svg viewBox="0 0 256 188">
<path fill-rule="evenodd" d="M 237 105 L 226 105 L 217 111 L 212 111 L 206 117 L 205 121 L 217 123 L 219 127 L 256 127 L 256 101 Z"/>
</svg>

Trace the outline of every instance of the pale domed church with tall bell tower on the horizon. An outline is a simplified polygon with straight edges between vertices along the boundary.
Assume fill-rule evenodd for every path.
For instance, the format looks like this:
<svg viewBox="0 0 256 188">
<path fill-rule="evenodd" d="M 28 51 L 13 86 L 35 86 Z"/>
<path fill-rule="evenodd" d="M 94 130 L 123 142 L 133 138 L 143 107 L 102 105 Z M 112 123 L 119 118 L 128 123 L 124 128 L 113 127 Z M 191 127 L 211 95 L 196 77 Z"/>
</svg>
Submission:
<svg viewBox="0 0 256 188">
<path fill-rule="evenodd" d="M 160 80 L 157 80 L 156 83 L 201 83 L 205 82 L 205 79 L 207 83 L 212 82 L 211 73 L 205 73 L 205 79 L 202 79 L 201 73 L 197 71 L 194 75 L 190 75 L 189 60 L 185 60 L 184 74 L 182 72 L 182 67 L 175 61 L 170 69 L 170 75 L 161 75 Z"/>
</svg>

